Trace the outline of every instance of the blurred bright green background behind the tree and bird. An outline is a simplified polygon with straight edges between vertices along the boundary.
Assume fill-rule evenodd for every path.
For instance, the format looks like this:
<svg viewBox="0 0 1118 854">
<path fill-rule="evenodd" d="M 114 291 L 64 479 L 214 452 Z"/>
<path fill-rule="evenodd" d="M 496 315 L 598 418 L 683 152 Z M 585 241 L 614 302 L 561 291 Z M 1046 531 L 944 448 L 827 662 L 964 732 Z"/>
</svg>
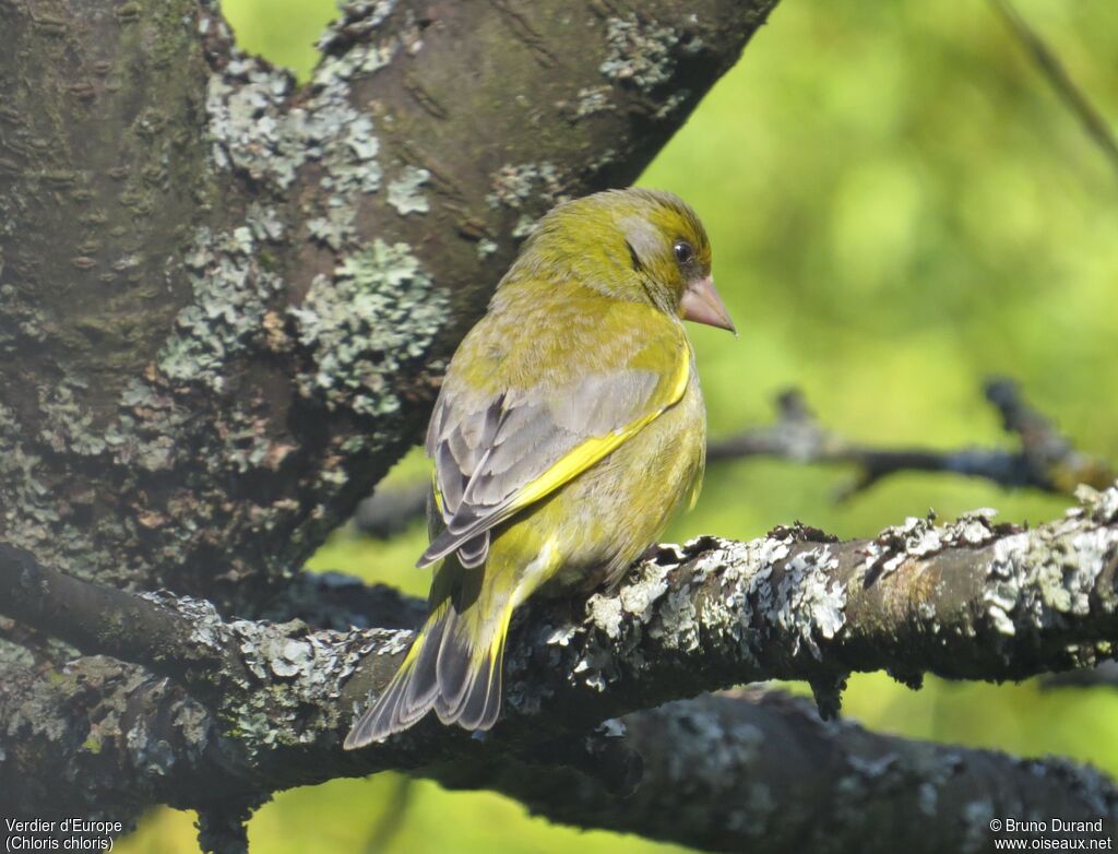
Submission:
<svg viewBox="0 0 1118 854">
<path fill-rule="evenodd" d="M 226 0 L 241 44 L 306 75 L 329 0 Z M 1106 116 L 1118 116 L 1118 4 L 1018 0 Z M 784 0 L 641 180 L 685 197 L 714 246 L 741 330 L 693 330 L 711 431 L 771 417 L 798 386 L 836 430 L 866 442 L 1004 445 L 982 398 L 989 373 L 1093 453 L 1118 461 L 1118 175 L 989 3 Z M 420 476 L 413 455 L 396 477 Z M 851 501 L 849 472 L 776 462 L 708 473 L 670 539 L 751 538 L 800 519 L 865 535 L 934 507 L 1041 521 L 1067 501 L 959 477 L 904 475 Z M 315 568 L 425 592 L 396 541 L 347 531 Z M 1118 692 L 949 684 L 919 692 L 858 676 L 849 717 L 883 732 L 1035 756 L 1118 776 Z M 117 846 L 197 851 L 193 815 L 155 810 Z M 392 775 L 281 794 L 250 824 L 260 854 L 381 851 L 681 851 L 529 818 L 489 794 Z"/>
</svg>

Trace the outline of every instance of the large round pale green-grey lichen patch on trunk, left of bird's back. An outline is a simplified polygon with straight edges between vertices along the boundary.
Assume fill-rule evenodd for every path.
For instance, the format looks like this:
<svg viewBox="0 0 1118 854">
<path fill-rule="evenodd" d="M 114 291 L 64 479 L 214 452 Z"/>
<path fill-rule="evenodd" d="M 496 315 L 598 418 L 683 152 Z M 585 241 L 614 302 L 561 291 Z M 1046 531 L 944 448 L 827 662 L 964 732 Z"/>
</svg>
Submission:
<svg viewBox="0 0 1118 854">
<path fill-rule="evenodd" d="M 301 392 L 330 409 L 383 415 L 400 407 L 389 378 L 424 357 L 449 306 L 406 244 L 378 238 L 332 277 L 316 276 L 290 312 L 314 362 Z"/>
</svg>

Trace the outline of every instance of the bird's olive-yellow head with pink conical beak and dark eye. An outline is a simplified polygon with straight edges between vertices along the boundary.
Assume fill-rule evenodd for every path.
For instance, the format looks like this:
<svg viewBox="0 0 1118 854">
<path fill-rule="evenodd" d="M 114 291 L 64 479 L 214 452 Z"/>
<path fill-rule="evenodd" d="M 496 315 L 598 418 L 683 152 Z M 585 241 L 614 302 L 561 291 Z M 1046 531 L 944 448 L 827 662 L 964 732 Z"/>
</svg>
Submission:
<svg viewBox="0 0 1118 854">
<path fill-rule="evenodd" d="M 710 241 L 691 207 L 670 192 L 629 188 L 563 202 L 540 220 L 509 279 L 576 281 L 735 332 L 710 273 Z"/>
</svg>

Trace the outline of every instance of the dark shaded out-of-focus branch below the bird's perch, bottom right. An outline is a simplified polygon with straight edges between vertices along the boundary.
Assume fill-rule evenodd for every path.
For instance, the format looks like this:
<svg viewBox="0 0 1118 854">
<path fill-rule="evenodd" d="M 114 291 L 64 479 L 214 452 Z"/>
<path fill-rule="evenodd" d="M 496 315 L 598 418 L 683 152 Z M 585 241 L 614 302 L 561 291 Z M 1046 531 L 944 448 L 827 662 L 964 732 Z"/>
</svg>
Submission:
<svg viewBox="0 0 1118 854">
<path fill-rule="evenodd" d="M 778 691 L 667 703 L 615 729 L 639 765 L 620 796 L 586 775 L 510 760 L 436 778 L 496 789 L 551 820 L 752 854 L 988 851 L 993 818 L 1101 819 L 1106 834 L 1118 822 L 1118 789 L 1089 768 L 877 736 L 823 722 Z"/>
</svg>

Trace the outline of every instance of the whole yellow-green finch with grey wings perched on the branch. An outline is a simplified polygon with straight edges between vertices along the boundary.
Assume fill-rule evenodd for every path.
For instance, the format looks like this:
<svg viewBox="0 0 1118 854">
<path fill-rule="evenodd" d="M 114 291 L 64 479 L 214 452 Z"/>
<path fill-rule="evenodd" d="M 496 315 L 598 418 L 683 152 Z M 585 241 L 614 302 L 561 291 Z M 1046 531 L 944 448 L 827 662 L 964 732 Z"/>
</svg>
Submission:
<svg viewBox="0 0 1118 854">
<path fill-rule="evenodd" d="M 612 190 L 539 222 L 435 404 L 430 614 L 347 749 L 432 709 L 490 729 L 513 610 L 616 585 L 693 501 L 707 414 L 683 320 L 733 331 L 681 199 Z"/>
</svg>

